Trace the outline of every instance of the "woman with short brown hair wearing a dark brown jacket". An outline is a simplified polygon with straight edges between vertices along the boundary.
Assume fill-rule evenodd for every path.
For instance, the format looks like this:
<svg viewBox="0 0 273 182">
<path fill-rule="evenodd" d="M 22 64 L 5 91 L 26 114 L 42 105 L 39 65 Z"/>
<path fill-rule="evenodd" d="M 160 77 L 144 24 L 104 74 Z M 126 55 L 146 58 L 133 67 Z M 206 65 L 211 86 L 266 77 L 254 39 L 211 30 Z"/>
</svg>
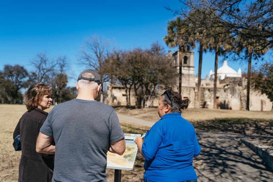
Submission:
<svg viewBox="0 0 273 182">
<path fill-rule="evenodd" d="M 51 93 L 51 87 L 39 82 L 30 86 L 24 94 L 28 111 L 22 115 L 13 133 L 13 138 L 20 135 L 22 148 L 18 182 L 50 182 L 52 179 L 53 171 L 44 160 L 53 169 L 54 155 L 36 152 L 36 139 L 48 114 L 44 110 L 50 107 Z"/>
</svg>

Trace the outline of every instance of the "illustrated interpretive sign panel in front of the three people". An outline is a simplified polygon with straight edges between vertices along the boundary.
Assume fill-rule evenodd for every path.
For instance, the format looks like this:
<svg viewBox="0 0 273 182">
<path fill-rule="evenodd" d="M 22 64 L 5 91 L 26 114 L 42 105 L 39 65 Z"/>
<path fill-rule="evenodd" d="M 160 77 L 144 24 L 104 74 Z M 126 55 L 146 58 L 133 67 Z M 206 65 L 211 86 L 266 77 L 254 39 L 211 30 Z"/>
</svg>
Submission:
<svg viewBox="0 0 273 182">
<path fill-rule="evenodd" d="M 107 152 L 107 168 L 133 170 L 137 158 L 137 144 L 135 138 L 139 134 L 125 133 L 125 152 L 122 156 Z"/>
</svg>

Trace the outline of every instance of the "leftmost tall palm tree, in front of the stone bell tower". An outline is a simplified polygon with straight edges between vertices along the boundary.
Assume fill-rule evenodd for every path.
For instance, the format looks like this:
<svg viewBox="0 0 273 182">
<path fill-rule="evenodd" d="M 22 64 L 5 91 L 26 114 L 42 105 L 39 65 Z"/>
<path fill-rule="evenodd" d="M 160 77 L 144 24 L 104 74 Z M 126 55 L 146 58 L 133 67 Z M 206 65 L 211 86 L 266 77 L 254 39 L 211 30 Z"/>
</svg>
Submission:
<svg viewBox="0 0 273 182">
<path fill-rule="evenodd" d="M 189 22 L 177 17 L 176 20 L 168 22 L 167 36 L 163 38 L 169 47 L 179 49 L 179 93 L 181 94 L 182 82 L 182 52 L 189 51 L 195 47 L 194 34 L 191 32 Z"/>
</svg>

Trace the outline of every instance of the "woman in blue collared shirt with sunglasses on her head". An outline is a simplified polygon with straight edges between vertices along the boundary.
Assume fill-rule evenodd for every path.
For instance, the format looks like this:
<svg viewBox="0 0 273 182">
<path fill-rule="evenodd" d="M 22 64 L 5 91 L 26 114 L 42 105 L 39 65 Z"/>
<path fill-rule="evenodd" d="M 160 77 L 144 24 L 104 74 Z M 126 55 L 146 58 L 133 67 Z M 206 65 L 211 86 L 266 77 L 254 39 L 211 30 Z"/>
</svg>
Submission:
<svg viewBox="0 0 273 182">
<path fill-rule="evenodd" d="M 144 182 L 150 181 L 197 181 L 193 157 L 201 149 L 193 125 L 181 117 L 181 109 L 188 107 L 190 100 L 182 100 L 171 87 L 161 96 L 158 106 L 160 120 L 146 133 L 144 142 L 138 136 L 135 143 L 145 158 Z"/>
</svg>

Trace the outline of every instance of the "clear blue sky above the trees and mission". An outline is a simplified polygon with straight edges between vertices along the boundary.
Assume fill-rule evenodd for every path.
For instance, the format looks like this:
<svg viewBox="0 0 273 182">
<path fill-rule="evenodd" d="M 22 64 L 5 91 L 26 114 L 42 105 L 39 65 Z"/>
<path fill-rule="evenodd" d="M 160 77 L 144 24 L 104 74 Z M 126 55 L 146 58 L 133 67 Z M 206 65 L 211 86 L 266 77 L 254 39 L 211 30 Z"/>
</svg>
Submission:
<svg viewBox="0 0 273 182">
<path fill-rule="evenodd" d="M 84 69 L 78 65 L 76 56 L 83 39 L 93 34 L 114 39 L 121 49 L 148 48 L 158 41 L 167 53 L 170 48 L 162 38 L 167 34 L 167 22 L 175 17 L 165 5 L 173 9 L 182 6 L 178 0 L 1 1 L 0 69 L 6 64 L 19 64 L 34 71 L 30 60 L 37 53 L 46 51 L 51 57 L 66 55 L 71 62 L 70 70 L 76 75 L 68 86 L 74 86 Z M 194 52 L 197 74 L 197 49 Z M 239 68 L 247 71 L 246 63 L 228 61 L 228 65 L 235 71 Z M 214 53 L 204 53 L 202 78 L 210 69 L 214 69 Z"/>
</svg>

